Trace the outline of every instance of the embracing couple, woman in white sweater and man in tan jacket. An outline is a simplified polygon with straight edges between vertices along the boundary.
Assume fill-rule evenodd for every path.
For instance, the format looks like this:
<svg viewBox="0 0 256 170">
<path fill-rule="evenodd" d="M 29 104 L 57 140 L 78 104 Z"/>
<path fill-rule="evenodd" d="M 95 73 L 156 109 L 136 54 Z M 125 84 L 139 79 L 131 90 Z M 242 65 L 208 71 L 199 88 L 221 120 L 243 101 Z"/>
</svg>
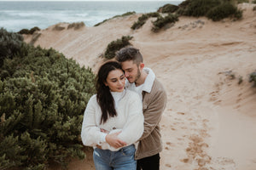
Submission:
<svg viewBox="0 0 256 170">
<path fill-rule="evenodd" d="M 159 170 L 160 118 L 166 91 L 137 48 L 104 63 L 84 111 L 81 137 L 93 146 L 96 170 Z"/>
</svg>

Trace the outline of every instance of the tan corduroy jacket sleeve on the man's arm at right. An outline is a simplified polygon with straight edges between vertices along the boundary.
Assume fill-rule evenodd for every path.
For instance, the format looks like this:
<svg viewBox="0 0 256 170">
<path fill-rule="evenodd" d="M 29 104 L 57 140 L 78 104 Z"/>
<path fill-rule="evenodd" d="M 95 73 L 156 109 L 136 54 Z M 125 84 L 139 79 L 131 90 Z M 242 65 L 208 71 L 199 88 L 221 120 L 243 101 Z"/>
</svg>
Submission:
<svg viewBox="0 0 256 170">
<path fill-rule="evenodd" d="M 163 111 L 166 109 L 167 96 L 164 88 L 160 88 L 155 94 L 150 94 L 150 96 L 152 98 L 150 98 L 148 105 L 143 105 L 144 132 L 140 140 L 147 138 L 152 133 L 159 124 Z"/>
</svg>

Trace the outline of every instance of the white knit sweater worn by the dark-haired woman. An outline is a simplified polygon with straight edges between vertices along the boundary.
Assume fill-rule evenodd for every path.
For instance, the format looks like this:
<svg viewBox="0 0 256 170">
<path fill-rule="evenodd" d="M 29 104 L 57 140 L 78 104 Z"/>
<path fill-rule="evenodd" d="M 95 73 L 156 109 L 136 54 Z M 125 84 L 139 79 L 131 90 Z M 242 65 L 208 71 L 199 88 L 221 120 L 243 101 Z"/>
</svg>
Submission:
<svg viewBox="0 0 256 170">
<path fill-rule="evenodd" d="M 118 137 L 125 141 L 127 145 L 135 144 L 142 136 L 144 117 L 142 101 L 138 94 L 130 90 L 124 90 L 123 93 L 112 93 L 112 95 L 115 99 L 117 116 L 109 117 L 104 124 L 100 124 L 102 111 L 100 105 L 96 102 L 96 95 L 90 98 L 84 111 L 81 132 L 84 145 L 96 146 L 96 144 L 99 144 L 103 150 L 119 150 L 102 140 L 100 128 L 108 130 L 110 133 L 121 130 Z"/>
</svg>

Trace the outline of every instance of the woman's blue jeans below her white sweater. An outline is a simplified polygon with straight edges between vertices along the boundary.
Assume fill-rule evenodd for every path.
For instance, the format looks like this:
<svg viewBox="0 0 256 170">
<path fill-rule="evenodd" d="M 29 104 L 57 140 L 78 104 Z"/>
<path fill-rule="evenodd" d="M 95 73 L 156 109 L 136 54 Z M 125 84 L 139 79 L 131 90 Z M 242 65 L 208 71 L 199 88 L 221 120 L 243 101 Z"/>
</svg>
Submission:
<svg viewBox="0 0 256 170">
<path fill-rule="evenodd" d="M 94 149 L 93 160 L 96 170 L 136 170 L 134 144 L 118 151 Z"/>
</svg>

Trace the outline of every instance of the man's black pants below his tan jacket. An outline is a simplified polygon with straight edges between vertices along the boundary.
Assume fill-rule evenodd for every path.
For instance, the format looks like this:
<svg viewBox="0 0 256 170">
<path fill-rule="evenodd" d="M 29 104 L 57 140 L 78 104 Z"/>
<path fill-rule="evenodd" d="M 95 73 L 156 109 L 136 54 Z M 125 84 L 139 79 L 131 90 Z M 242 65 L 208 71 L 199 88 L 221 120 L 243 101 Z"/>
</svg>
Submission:
<svg viewBox="0 0 256 170">
<path fill-rule="evenodd" d="M 137 170 L 159 170 L 160 169 L 160 155 L 145 157 L 137 160 Z"/>
</svg>

